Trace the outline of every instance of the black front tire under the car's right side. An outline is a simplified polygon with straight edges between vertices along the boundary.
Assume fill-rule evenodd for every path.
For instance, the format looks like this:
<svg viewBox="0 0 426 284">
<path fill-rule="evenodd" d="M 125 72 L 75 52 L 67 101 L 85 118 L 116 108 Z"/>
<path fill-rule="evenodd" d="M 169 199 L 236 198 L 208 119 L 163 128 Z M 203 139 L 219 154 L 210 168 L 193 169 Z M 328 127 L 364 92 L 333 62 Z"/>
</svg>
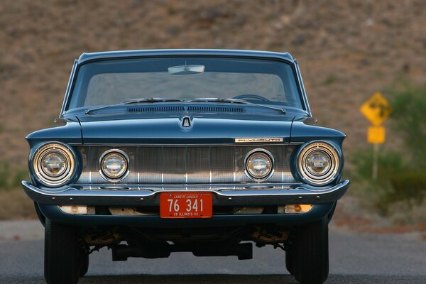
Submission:
<svg viewBox="0 0 426 284">
<path fill-rule="evenodd" d="M 322 284 L 329 273 L 328 220 L 323 218 L 295 232 L 294 275 L 301 284 Z"/>
</svg>

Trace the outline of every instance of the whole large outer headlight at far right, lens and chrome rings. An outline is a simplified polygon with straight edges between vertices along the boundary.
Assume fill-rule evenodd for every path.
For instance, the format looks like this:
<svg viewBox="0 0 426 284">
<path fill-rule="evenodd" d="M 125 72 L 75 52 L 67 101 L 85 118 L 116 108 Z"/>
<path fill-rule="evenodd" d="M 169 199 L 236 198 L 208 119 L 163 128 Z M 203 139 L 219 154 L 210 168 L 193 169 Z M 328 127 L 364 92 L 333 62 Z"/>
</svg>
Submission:
<svg viewBox="0 0 426 284">
<path fill-rule="evenodd" d="M 314 142 L 302 148 L 297 167 L 307 183 L 326 185 L 336 178 L 339 164 L 339 153 L 333 146 L 324 142 Z"/>
</svg>

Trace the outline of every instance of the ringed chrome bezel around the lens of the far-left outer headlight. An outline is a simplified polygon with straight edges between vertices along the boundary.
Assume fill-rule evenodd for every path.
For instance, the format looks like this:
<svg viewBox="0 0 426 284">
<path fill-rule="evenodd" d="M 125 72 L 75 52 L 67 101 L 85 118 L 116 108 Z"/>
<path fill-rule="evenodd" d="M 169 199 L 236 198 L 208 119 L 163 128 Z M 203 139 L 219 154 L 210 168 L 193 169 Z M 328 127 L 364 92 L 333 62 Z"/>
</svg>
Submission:
<svg viewBox="0 0 426 284">
<path fill-rule="evenodd" d="M 65 160 L 65 168 L 58 175 L 48 173 L 43 168 L 43 159 L 53 153 L 62 155 Z M 39 182 L 47 187 L 60 187 L 65 185 L 75 174 L 76 157 L 70 146 L 60 142 L 49 142 L 34 151 L 31 165 L 35 178 Z"/>
</svg>

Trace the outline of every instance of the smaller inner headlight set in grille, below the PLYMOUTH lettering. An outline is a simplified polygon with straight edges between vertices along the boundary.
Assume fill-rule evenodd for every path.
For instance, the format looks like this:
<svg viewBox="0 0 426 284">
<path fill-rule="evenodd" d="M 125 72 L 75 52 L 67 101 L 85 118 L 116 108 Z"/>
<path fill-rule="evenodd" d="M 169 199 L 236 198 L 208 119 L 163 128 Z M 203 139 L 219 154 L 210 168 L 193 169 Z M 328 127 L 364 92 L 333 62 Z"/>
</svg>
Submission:
<svg viewBox="0 0 426 284">
<path fill-rule="evenodd" d="M 254 149 L 246 155 L 246 175 L 252 180 L 262 181 L 273 173 L 272 154 L 264 149 Z"/>
</svg>

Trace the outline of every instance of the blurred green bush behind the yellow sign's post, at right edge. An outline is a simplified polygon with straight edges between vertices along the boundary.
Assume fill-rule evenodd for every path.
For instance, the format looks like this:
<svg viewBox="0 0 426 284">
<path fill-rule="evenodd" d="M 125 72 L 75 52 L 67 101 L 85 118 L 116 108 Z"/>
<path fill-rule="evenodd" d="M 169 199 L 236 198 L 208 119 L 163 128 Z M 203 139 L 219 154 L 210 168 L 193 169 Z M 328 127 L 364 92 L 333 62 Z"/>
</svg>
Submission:
<svg viewBox="0 0 426 284">
<path fill-rule="evenodd" d="M 403 138 L 404 147 L 388 151 L 381 146 L 377 180 L 371 176 L 372 147 L 356 150 L 349 156 L 350 175 L 361 187 L 361 199 L 381 214 L 389 214 L 395 204 L 415 208 L 426 199 L 426 175 L 423 173 L 426 166 L 426 85 L 418 87 L 399 80 L 385 93 L 393 107 L 391 125 Z"/>
</svg>

